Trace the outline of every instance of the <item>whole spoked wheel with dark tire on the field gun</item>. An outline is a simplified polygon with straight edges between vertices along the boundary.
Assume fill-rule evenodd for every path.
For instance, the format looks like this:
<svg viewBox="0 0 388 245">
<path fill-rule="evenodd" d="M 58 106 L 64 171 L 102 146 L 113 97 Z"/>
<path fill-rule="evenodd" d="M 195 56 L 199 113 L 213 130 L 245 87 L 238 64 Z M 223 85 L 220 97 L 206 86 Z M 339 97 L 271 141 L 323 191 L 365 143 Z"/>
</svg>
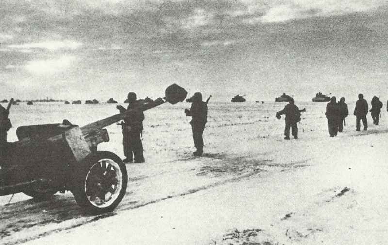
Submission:
<svg viewBox="0 0 388 245">
<path fill-rule="evenodd" d="M 77 203 L 93 214 L 112 211 L 127 188 L 124 163 L 112 152 L 97 151 L 83 164 L 72 191 Z"/>
</svg>

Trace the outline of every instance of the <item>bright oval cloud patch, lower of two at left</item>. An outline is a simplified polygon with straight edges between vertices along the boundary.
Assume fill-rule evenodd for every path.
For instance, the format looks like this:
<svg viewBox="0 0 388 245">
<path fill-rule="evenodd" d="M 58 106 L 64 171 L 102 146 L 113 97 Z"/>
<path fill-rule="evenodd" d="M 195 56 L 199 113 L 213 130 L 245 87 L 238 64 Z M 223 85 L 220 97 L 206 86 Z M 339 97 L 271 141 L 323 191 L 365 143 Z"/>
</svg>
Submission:
<svg viewBox="0 0 388 245">
<path fill-rule="evenodd" d="M 76 61 L 76 57 L 64 55 L 55 59 L 29 61 L 27 65 L 24 65 L 24 69 L 37 76 L 55 75 L 66 71 Z"/>
</svg>

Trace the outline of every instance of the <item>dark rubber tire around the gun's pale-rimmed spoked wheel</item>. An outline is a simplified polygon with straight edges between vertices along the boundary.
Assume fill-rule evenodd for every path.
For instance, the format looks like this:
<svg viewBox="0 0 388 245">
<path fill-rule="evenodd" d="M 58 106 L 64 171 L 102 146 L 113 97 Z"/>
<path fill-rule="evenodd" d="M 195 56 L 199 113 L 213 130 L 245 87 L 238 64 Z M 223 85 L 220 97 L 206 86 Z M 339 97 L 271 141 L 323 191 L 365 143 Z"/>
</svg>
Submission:
<svg viewBox="0 0 388 245">
<path fill-rule="evenodd" d="M 104 159 L 104 158 L 112 159 L 114 162 L 116 162 L 119 165 L 119 168 L 122 173 L 122 188 L 119 193 L 119 196 L 110 206 L 99 208 L 89 202 L 85 193 L 84 186 L 85 186 L 86 175 L 89 172 L 90 167 L 93 166 L 95 163 L 97 163 L 100 159 Z M 84 162 L 81 163 L 80 166 L 81 167 L 77 171 L 77 176 L 75 177 L 73 189 L 71 191 L 74 195 L 74 198 L 76 199 L 77 204 L 86 213 L 90 213 L 94 215 L 105 213 L 105 212 L 112 212 L 123 199 L 127 189 L 127 181 L 128 181 L 127 169 L 125 167 L 125 164 L 121 160 L 121 158 L 109 151 L 96 151 L 92 153 L 91 156 L 86 158 Z"/>
</svg>

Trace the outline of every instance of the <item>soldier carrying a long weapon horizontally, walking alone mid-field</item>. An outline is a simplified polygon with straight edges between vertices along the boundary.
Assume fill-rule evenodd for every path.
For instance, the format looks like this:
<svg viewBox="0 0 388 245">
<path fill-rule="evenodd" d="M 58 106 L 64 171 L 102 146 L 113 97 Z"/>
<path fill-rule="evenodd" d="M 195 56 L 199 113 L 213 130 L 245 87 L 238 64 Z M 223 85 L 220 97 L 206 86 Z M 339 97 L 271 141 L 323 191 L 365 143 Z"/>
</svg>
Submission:
<svg viewBox="0 0 388 245">
<path fill-rule="evenodd" d="M 299 108 L 294 104 L 294 99 L 290 98 L 289 104 L 284 107 L 283 110 L 276 113 L 277 119 L 280 119 L 280 115 L 286 115 L 285 122 L 286 126 L 284 128 L 284 139 L 289 140 L 290 139 L 290 127 L 292 127 L 292 135 L 295 139 L 298 138 L 298 126 L 296 125 L 297 122 L 300 121 L 300 111 Z"/>
</svg>

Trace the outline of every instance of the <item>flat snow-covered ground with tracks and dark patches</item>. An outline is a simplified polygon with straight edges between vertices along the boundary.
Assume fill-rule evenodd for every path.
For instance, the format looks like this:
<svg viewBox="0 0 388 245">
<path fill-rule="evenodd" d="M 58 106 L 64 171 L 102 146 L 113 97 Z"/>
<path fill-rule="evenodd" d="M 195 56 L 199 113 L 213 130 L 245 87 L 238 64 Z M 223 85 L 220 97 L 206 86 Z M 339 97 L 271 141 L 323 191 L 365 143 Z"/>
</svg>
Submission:
<svg viewBox="0 0 388 245">
<path fill-rule="evenodd" d="M 191 155 L 189 104 L 150 110 L 146 163 L 127 165 L 127 195 L 113 213 L 86 216 L 70 193 L 46 202 L 17 194 L 9 205 L 3 196 L 0 243 L 387 244 L 386 112 L 367 132 L 356 132 L 349 116 L 345 132 L 329 138 L 325 103 L 296 104 L 307 110 L 299 139 L 284 141 L 284 120 L 275 118 L 283 103 L 210 103 L 201 158 Z M 84 125 L 114 107 L 20 105 L 11 120 Z M 122 157 L 120 128 L 108 131 L 101 149 Z M 15 129 L 9 134 L 16 140 Z"/>
</svg>

